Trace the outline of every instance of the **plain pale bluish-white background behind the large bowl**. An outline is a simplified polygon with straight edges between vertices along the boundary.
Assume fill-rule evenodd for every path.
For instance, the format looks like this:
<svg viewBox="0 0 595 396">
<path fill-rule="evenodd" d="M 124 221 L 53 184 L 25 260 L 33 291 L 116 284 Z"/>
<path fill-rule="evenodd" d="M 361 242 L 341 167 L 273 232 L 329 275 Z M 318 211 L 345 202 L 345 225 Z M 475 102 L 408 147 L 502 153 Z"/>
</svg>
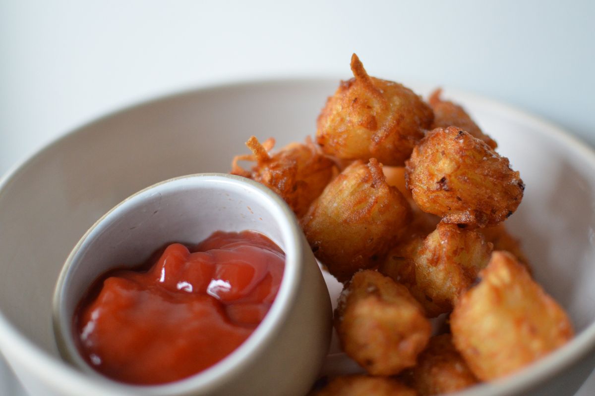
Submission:
<svg viewBox="0 0 595 396">
<path fill-rule="evenodd" d="M 226 81 L 348 78 L 352 52 L 371 75 L 483 94 L 595 145 L 594 19 L 589 0 L 0 0 L 0 175 L 118 107 Z"/>
</svg>

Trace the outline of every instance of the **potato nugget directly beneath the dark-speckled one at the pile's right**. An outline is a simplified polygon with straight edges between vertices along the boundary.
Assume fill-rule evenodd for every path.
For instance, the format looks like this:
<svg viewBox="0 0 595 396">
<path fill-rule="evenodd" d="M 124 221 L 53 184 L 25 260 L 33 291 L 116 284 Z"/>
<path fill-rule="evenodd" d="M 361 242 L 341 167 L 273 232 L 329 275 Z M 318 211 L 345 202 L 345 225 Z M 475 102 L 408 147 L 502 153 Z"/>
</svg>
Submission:
<svg viewBox="0 0 595 396">
<path fill-rule="evenodd" d="M 492 246 L 480 232 L 439 223 L 424 240 L 393 248 L 378 270 L 408 287 L 428 316 L 437 316 L 452 311 L 490 261 Z"/>
</svg>

